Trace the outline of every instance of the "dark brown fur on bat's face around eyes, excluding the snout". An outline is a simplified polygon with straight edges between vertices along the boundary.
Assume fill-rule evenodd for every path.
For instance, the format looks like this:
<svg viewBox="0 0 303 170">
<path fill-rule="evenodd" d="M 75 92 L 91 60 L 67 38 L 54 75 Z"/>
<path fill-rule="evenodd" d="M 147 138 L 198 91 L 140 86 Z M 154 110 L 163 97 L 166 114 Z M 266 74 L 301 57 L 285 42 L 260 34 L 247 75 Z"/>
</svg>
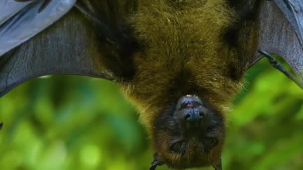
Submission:
<svg viewBox="0 0 303 170">
<path fill-rule="evenodd" d="M 203 101 L 207 115 L 200 125 L 187 128 L 176 117 L 176 105 L 161 111 L 154 122 L 152 142 L 158 160 L 170 168 L 214 165 L 220 160 L 224 142 L 222 113 Z M 187 122 L 185 122 L 187 123 Z"/>
</svg>

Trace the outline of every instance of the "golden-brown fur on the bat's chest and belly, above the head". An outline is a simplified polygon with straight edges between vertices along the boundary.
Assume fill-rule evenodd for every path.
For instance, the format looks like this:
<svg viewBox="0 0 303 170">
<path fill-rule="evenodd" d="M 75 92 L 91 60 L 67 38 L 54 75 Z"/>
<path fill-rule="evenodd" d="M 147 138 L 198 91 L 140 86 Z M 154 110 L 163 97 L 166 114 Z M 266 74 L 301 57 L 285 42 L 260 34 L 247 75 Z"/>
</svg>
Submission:
<svg viewBox="0 0 303 170">
<path fill-rule="evenodd" d="M 207 90 L 206 98 L 223 112 L 229 107 L 241 86 L 228 77 L 235 51 L 222 39 L 235 20 L 232 11 L 225 0 L 141 1 L 130 22 L 145 49 L 135 55 L 136 76 L 123 89 L 149 131 L 161 105 L 175 95 L 169 86 L 184 72 L 191 75 L 184 80 L 189 86 Z"/>
</svg>

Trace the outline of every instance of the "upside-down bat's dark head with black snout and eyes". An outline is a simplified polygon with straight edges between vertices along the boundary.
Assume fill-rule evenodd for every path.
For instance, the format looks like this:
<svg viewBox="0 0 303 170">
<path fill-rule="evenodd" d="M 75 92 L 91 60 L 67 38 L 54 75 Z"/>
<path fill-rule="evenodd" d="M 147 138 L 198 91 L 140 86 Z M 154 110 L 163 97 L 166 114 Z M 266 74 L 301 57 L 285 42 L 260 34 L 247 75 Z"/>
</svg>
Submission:
<svg viewBox="0 0 303 170">
<path fill-rule="evenodd" d="M 224 117 L 196 95 L 185 95 L 154 122 L 158 162 L 185 169 L 214 165 L 224 143 Z"/>
</svg>

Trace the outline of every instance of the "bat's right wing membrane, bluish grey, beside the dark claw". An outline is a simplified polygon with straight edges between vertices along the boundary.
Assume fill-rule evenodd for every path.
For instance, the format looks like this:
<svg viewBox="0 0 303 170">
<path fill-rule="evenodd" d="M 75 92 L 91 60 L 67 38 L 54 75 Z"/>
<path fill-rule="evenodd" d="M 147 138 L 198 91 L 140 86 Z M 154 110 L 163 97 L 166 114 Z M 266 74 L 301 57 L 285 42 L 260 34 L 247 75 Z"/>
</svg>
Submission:
<svg viewBox="0 0 303 170">
<path fill-rule="evenodd" d="M 303 1 L 263 0 L 259 10 L 257 50 L 280 55 L 303 80 Z"/>
</svg>

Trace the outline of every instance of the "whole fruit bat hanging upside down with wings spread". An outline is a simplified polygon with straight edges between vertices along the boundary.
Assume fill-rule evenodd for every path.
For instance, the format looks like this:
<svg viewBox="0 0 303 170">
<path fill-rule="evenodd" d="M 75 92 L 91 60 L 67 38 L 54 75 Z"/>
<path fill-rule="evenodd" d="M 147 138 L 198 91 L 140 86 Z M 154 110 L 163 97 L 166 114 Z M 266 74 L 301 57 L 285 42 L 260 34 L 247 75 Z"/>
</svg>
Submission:
<svg viewBox="0 0 303 170">
<path fill-rule="evenodd" d="M 226 113 L 263 56 L 303 87 L 301 0 L 0 1 L 0 96 L 44 75 L 115 81 L 151 138 L 150 170 L 222 169 Z"/>
</svg>

